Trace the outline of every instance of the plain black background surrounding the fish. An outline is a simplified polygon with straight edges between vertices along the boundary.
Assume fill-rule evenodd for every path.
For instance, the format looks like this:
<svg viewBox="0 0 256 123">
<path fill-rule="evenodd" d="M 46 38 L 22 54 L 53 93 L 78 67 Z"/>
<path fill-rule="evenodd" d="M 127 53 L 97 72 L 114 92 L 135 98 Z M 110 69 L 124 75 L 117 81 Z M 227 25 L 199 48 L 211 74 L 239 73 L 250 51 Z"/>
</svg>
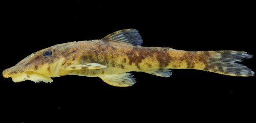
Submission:
<svg viewBox="0 0 256 123">
<path fill-rule="evenodd" d="M 256 56 L 251 3 L 36 2 L 2 3 L 1 71 L 59 43 L 101 39 L 136 28 L 142 46 L 180 50 L 242 50 Z M 255 58 L 243 65 L 253 71 Z M 137 83 L 114 87 L 100 78 L 62 76 L 52 83 L 0 77 L 1 118 L 38 122 L 248 119 L 255 76 L 173 70 L 170 78 L 133 72 Z M 242 117 L 244 114 L 245 117 Z M 10 117 L 10 118 L 9 118 Z"/>
</svg>

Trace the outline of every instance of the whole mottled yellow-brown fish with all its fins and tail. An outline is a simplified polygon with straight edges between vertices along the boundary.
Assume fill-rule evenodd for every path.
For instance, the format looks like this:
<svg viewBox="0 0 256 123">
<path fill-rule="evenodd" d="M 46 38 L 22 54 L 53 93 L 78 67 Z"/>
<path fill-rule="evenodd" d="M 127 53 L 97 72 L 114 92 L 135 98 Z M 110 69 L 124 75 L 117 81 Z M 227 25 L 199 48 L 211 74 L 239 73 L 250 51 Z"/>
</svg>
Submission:
<svg viewBox="0 0 256 123">
<path fill-rule="evenodd" d="M 245 51 L 185 51 L 168 47 L 142 47 L 138 30 L 114 32 L 100 40 L 57 44 L 34 52 L 3 71 L 13 82 L 53 82 L 53 77 L 99 77 L 105 83 L 128 87 L 136 83 L 129 72 L 170 77 L 172 69 L 195 69 L 228 76 L 249 77 L 254 72 L 239 64 L 252 58 Z"/>
</svg>

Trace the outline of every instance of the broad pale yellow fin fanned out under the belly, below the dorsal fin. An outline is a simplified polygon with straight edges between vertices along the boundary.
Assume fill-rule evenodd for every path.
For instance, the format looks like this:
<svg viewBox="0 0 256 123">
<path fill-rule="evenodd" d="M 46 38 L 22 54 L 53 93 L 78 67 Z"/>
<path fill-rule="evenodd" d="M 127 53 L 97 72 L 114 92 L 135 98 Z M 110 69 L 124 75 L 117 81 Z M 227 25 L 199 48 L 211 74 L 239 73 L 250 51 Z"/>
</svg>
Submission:
<svg viewBox="0 0 256 123">
<path fill-rule="evenodd" d="M 99 76 L 104 82 L 118 87 L 128 87 L 136 83 L 135 78 L 130 73 L 121 73 L 121 74 L 110 74 L 110 75 L 101 75 Z"/>
</svg>

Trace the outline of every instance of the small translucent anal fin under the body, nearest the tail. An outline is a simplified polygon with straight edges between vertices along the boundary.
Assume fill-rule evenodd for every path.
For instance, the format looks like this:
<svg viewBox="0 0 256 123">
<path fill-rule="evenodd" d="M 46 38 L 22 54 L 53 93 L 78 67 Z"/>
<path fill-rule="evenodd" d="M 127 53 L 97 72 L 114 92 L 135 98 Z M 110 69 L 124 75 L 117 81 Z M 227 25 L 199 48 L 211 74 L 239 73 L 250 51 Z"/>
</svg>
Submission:
<svg viewBox="0 0 256 123">
<path fill-rule="evenodd" d="M 143 72 L 161 77 L 170 77 L 173 74 L 172 70 L 169 69 L 148 70 Z"/>
</svg>

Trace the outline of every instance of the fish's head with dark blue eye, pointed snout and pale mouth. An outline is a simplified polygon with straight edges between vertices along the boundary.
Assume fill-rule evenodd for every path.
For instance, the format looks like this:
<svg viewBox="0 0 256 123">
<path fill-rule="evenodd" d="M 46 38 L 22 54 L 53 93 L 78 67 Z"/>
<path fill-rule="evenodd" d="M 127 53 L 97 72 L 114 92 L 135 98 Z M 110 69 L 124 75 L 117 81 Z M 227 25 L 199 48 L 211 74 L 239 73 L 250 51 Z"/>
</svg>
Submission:
<svg viewBox="0 0 256 123">
<path fill-rule="evenodd" d="M 67 44 L 58 44 L 34 52 L 19 61 L 15 66 L 4 70 L 3 76 L 5 78 L 11 77 L 14 82 L 25 80 L 52 82 L 51 77 L 59 76 L 58 72 L 67 60 L 66 57 L 68 56 L 63 56 L 65 53 L 69 54 L 68 51 L 65 51 L 67 50 Z"/>
</svg>

